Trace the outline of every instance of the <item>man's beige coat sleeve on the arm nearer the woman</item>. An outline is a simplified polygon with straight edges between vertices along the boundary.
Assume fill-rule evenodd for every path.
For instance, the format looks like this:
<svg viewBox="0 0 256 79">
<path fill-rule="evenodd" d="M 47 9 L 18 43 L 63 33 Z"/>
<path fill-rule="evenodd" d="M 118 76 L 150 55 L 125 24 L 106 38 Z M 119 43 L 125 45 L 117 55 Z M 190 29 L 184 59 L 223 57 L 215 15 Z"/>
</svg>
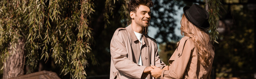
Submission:
<svg viewBox="0 0 256 79">
<path fill-rule="evenodd" d="M 157 47 L 157 44 L 155 44 L 155 49 L 156 49 L 156 51 L 154 51 L 154 53 L 155 53 L 155 66 L 156 67 L 158 67 L 158 68 L 163 68 L 164 66 L 166 66 L 165 65 L 165 63 L 164 62 L 162 62 L 161 60 L 160 60 L 160 57 L 159 57 L 159 55 L 158 55 L 158 47 Z"/>
</svg>

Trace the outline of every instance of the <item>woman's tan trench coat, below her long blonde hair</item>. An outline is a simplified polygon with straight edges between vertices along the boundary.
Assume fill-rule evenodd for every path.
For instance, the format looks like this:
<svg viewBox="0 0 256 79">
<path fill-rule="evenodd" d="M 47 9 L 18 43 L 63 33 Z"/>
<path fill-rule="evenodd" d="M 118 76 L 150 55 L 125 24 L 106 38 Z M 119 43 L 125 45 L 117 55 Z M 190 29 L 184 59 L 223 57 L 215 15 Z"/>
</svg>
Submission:
<svg viewBox="0 0 256 79">
<path fill-rule="evenodd" d="M 169 70 L 163 70 L 161 79 L 210 79 L 213 59 L 210 66 L 202 66 L 197 56 L 194 41 L 183 37 L 178 48 L 169 59 Z"/>
</svg>

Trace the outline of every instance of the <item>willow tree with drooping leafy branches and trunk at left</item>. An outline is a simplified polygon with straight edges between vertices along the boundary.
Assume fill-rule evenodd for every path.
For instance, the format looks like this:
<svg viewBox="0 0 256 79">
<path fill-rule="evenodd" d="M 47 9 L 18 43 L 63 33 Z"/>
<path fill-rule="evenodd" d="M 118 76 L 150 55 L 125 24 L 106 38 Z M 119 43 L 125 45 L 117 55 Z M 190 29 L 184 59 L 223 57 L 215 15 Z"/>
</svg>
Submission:
<svg viewBox="0 0 256 79">
<path fill-rule="evenodd" d="M 86 78 L 93 40 L 93 0 L 1 0 L 0 55 L 3 78 L 33 72 L 39 60 L 53 59 L 61 73 Z M 17 73 L 18 72 L 18 73 Z"/>
</svg>

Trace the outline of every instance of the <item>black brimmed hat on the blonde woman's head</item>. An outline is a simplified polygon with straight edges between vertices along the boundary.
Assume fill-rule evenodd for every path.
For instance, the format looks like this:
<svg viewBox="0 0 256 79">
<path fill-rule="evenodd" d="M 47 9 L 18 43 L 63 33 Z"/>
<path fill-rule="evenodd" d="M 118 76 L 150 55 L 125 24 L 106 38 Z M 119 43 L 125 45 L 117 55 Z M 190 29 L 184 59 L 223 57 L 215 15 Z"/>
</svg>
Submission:
<svg viewBox="0 0 256 79">
<path fill-rule="evenodd" d="M 210 24 L 208 22 L 208 12 L 197 4 L 183 7 L 183 12 L 188 21 L 201 29 L 208 29 Z"/>
</svg>

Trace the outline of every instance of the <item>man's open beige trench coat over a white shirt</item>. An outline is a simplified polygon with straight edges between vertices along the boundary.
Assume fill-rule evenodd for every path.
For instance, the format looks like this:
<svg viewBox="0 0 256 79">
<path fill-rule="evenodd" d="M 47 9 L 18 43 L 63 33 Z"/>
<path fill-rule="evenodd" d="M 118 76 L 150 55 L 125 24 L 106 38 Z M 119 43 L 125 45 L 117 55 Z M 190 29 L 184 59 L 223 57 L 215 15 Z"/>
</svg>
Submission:
<svg viewBox="0 0 256 79">
<path fill-rule="evenodd" d="M 155 39 L 142 32 L 141 50 L 140 44 L 131 25 L 115 31 L 110 43 L 110 79 L 152 79 L 150 74 L 143 73 L 145 67 L 152 64 L 162 69 L 165 66 L 159 58 Z M 140 53 L 143 66 L 137 64 Z"/>
</svg>

